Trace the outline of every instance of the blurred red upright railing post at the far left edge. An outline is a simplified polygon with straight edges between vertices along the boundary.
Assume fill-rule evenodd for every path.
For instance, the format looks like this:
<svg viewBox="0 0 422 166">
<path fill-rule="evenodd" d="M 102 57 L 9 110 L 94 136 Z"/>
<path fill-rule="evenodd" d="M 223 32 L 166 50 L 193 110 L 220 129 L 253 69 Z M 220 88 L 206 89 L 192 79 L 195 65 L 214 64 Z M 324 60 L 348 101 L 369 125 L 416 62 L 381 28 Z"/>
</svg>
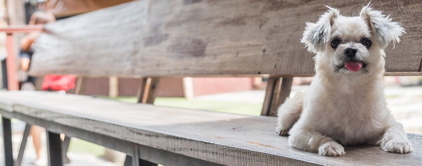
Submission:
<svg viewBox="0 0 422 166">
<path fill-rule="evenodd" d="M 7 33 L 7 58 L 6 58 L 6 67 L 7 67 L 7 81 L 8 81 L 8 90 L 19 90 L 17 69 L 16 69 L 16 57 L 14 53 L 13 46 L 13 35 L 12 33 Z"/>
</svg>

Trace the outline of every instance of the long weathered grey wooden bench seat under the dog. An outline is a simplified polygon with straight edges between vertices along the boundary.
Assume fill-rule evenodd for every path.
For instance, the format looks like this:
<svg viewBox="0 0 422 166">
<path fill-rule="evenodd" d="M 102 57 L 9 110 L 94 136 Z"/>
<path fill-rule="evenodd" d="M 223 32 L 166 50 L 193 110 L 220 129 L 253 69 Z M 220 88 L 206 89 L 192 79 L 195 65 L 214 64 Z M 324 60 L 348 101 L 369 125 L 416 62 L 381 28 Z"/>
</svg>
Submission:
<svg viewBox="0 0 422 166">
<path fill-rule="evenodd" d="M 418 134 L 408 134 L 415 149 L 412 153 L 387 153 L 378 146 L 365 145 L 347 146 L 346 155 L 341 157 L 326 157 L 289 147 L 287 137 L 275 133 L 276 117 L 268 116 L 130 104 L 39 91 L 0 92 L 0 113 L 128 154 L 139 152 L 141 159 L 164 165 L 422 163 L 422 136 Z M 160 155 L 169 157 L 163 159 Z M 196 161 L 187 163 L 184 158 Z"/>
</svg>

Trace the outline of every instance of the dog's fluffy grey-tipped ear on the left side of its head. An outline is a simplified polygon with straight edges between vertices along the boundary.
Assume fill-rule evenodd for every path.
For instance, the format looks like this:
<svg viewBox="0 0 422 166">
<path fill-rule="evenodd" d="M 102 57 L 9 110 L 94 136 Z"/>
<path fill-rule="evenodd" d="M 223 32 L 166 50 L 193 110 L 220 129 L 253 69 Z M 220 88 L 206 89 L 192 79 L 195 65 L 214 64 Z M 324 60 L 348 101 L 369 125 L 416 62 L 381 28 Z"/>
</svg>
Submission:
<svg viewBox="0 0 422 166">
<path fill-rule="evenodd" d="M 319 16 L 317 23 L 306 22 L 305 31 L 300 42 L 305 43 L 311 53 L 324 52 L 330 41 L 331 26 L 334 19 L 340 16 L 336 8 L 326 6 L 328 11 Z"/>
</svg>

